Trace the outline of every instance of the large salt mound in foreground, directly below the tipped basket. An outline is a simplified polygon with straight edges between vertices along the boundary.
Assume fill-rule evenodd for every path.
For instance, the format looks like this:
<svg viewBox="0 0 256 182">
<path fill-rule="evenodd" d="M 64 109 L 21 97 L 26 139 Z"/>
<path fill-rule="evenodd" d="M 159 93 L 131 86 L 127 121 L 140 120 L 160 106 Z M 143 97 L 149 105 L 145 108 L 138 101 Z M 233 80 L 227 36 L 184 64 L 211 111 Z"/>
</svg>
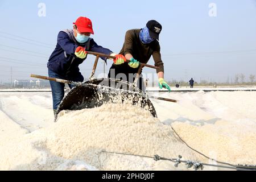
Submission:
<svg viewBox="0 0 256 182">
<path fill-rule="evenodd" d="M 175 137 L 170 126 L 163 125 L 138 106 L 106 104 L 94 109 L 63 111 L 60 115 L 52 126 L 0 146 L 0 169 L 175 169 L 170 162 L 97 155 L 101 150 L 158 154 L 165 158 L 182 154 L 183 159 L 199 160 L 199 156 Z"/>
</svg>

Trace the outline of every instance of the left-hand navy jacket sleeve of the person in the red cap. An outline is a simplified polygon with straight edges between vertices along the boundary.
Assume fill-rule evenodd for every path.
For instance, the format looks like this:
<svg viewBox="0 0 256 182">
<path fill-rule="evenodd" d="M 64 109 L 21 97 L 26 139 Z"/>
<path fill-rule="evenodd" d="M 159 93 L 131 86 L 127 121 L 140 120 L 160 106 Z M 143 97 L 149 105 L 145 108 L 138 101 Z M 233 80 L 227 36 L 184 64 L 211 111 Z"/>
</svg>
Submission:
<svg viewBox="0 0 256 182">
<path fill-rule="evenodd" d="M 79 45 L 69 38 L 68 34 L 62 31 L 59 32 L 57 43 L 68 55 L 72 56 L 75 56 L 76 48 L 79 47 Z"/>
</svg>

